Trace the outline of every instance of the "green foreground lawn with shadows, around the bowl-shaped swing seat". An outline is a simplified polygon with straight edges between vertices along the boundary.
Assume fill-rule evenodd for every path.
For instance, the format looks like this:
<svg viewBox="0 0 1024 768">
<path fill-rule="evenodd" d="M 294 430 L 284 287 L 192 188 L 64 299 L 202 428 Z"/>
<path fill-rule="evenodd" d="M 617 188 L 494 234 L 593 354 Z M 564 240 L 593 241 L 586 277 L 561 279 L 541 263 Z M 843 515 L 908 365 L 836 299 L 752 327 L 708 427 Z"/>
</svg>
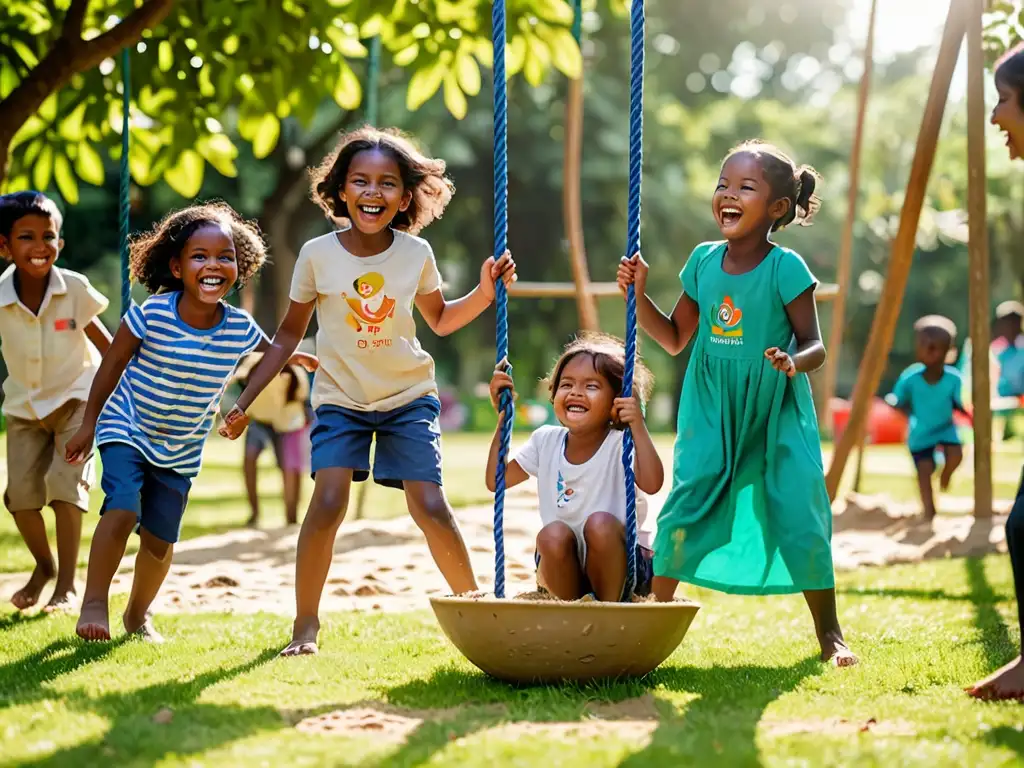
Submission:
<svg viewBox="0 0 1024 768">
<path fill-rule="evenodd" d="M 288 618 L 160 617 L 169 638 L 86 645 L 73 620 L 0 615 L 0 765 L 965 766 L 1024 759 L 1018 705 L 962 687 L 1016 652 L 1005 558 L 844 574 L 841 611 L 863 663 L 815 659 L 799 597 L 700 593 L 679 650 L 647 679 L 515 689 L 470 667 L 425 612 L 330 616 L 318 657 L 279 659 Z M 580 723 L 588 702 L 650 691 L 649 739 L 523 737 L 507 723 Z M 403 742 L 308 734 L 304 715 L 389 703 L 426 711 Z M 173 712 L 170 724 L 153 716 Z M 442 710 L 444 712 L 442 712 Z M 876 719 L 879 732 L 820 724 Z M 817 732 L 779 734 L 779 725 Z M 885 728 L 899 725 L 899 733 Z"/>
</svg>

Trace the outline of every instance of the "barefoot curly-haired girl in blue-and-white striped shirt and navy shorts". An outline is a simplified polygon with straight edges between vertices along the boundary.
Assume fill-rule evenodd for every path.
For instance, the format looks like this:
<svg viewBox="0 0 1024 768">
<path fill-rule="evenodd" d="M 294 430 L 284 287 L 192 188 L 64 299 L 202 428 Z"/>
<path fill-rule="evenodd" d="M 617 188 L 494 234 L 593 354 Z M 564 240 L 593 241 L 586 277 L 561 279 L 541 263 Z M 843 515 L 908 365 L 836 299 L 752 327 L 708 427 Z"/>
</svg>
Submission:
<svg viewBox="0 0 1024 768">
<path fill-rule="evenodd" d="M 103 464 L 102 519 L 77 628 L 86 640 L 111 638 L 111 580 L 133 530 L 140 543 L 124 628 L 162 640 L 150 605 L 171 565 L 203 445 L 234 367 L 268 345 L 249 313 L 223 299 L 265 257 L 255 224 L 223 204 L 171 213 L 132 243 L 132 279 L 154 295 L 121 323 L 67 449 L 68 462 L 80 463 L 95 434 Z M 315 365 L 307 355 L 293 361 Z"/>
</svg>

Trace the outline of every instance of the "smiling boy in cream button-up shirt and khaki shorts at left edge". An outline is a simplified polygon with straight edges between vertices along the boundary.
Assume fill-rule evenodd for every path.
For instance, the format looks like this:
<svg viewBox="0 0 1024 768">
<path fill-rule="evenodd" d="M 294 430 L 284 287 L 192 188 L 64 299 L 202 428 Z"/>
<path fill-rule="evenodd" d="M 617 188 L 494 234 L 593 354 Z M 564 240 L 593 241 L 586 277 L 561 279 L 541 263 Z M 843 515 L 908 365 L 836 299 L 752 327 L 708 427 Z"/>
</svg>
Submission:
<svg viewBox="0 0 1024 768">
<path fill-rule="evenodd" d="M 75 607 L 75 570 L 82 515 L 89 509 L 94 462 L 63 461 L 78 431 L 89 385 L 111 335 L 99 322 L 106 298 L 83 274 L 54 265 L 63 248 L 62 217 L 45 195 L 0 198 L 0 255 L 11 262 L 0 275 L 0 343 L 7 380 L 7 492 L 4 503 L 36 561 L 29 583 L 10 601 L 25 609 L 56 575 L 44 610 Z M 53 509 L 57 567 L 42 509 Z"/>
</svg>

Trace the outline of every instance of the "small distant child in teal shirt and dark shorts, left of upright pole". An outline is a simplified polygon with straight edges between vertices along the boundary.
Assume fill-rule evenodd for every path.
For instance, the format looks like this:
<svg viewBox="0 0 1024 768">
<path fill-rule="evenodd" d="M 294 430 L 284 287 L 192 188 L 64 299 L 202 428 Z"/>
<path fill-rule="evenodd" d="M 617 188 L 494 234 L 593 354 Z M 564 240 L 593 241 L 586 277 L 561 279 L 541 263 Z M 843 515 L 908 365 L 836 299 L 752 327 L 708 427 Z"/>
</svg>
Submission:
<svg viewBox="0 0 1024 768">
<path fill-rule="evenodd" d="M 909 417 L 907 447 L 918 470 L 925 519 L 932 520 L 935 517 L 932 489 L 935 455 L 941 451 L 945 460 L 939 487 L 946 490 L 953 472 L 964 460 L 953 413 L 967 414 L 967 411 L 959 371 L 946 365 L 956 339 L 956 326 L 948 317 L 930 314 L 914 323 L 913 330 L 918 361 L 900 374 L 886 400 Z"/>
</svg>

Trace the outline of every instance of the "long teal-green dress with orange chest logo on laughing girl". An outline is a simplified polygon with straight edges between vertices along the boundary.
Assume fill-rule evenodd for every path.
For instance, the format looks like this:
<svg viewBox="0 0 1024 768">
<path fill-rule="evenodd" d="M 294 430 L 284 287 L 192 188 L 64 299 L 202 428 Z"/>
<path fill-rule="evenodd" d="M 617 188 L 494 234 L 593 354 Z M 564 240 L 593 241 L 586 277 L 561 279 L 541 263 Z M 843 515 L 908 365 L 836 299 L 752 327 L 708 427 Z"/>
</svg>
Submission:
<svg viewBox="0 0 1024 768">
<path fill-rule="evenodd" d="M 700 323 L 654 573 L 742 595 L 829 589 L 831 508 L 810 383 L 764 355 L 791 348 L 785 305 L 817 281 L 779 246 L 751 271 L 728 274 L 725 250 L 697 246 L 680 274 Z"/>
</svg>

